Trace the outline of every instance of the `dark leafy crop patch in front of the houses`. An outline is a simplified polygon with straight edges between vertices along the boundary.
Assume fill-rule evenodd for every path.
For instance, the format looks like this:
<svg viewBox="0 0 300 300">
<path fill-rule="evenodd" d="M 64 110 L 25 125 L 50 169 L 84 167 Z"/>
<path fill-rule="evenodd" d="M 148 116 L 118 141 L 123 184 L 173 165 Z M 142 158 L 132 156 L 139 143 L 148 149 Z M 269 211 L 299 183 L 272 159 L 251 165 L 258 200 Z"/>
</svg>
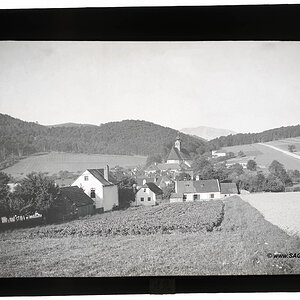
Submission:
<svg viewBox="0 0 300 300">
<path fill-rule="evenodd" d="M 37 226 L 0 234 L 0 238 L 149 235 L 212 231 L 223 220 L 222 201 L 133 207 L 59 225 Z"/>
</svg>

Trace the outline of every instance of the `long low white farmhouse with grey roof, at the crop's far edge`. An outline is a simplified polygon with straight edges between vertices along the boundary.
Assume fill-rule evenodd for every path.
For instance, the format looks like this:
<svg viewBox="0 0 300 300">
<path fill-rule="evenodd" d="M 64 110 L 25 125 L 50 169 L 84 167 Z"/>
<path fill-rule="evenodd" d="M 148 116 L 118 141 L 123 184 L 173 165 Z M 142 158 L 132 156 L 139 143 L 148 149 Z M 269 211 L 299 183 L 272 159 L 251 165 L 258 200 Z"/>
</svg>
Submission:
<svg viewBox="0 0 300 300">
<path fill-rule="evenodd" d="M 221 190 L 217 179 L 175 181 L 175 193 L 170 202 L 206 201 L 220 199 Z"/>
</svg>

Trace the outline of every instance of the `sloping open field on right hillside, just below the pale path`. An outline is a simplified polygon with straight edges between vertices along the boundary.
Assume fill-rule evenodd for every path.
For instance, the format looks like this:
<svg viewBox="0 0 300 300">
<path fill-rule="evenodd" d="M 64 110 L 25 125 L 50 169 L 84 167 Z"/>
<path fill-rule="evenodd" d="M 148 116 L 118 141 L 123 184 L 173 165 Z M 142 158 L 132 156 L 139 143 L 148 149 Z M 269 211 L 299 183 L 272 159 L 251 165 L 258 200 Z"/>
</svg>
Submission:
<svg viewBox="0 0 300 300">
<path fill-rule="evenodd" d="M 268 168 L 273 160 L 278 160 L 282 163 L 286 169 L 297 169 L 300 171 L 300 160 L 294 157 L 288 156 L 278 150 L 271 149 L 260 144 L 238 145 L 231 147 L 224 147 L 223 150 L 228 152 L 234 152 L 237 154 L 239 151 L 243 151 L 247 156 L 254 156 L 259 166 Z"/>
</svg>

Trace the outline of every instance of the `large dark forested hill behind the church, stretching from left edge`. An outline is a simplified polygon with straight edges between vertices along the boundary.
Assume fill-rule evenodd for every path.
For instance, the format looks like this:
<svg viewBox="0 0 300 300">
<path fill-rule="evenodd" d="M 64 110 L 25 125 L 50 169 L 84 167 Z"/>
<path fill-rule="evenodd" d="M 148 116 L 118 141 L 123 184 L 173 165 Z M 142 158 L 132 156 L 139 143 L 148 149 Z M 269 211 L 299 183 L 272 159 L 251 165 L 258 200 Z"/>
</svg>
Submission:
<svg viewBox="0 0 300 300">
<path fill-rule="evenodd" d="M 0 114 L 0 160 L 48 151 L 165 155 L 176 136 L 176 130 L 146 121 L 47 127 Z M 189 152 L 202 153 L 206 149 L 206 143 L 195 137 L 181 134 L 181 139 Z"/>
</svg>

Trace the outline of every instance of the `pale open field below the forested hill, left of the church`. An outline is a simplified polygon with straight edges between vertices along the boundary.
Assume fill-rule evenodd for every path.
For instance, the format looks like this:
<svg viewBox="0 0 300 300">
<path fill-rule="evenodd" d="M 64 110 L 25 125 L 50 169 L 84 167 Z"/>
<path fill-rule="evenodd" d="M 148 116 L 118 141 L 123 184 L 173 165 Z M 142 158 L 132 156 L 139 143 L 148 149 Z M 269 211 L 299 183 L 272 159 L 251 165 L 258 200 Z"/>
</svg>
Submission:
<svg viewBox="0 0 300 300">
<path fill-rule="evenodd" d="M 25 158 L 2 171 L 13 177 L 23 177 L 32 171 L 49 172 L 49 175 L 51 175 L 58 173 L 61 170 L 83 172 L 88 168 L 103 168 L 105 165 L 109 165 L 110 167 L 116 165 L 124 167 L 137 166 L 144 164 L 145 162 L 146 157 L 144 156 L 52 152 L 46 155 Z"/>
</svg>

